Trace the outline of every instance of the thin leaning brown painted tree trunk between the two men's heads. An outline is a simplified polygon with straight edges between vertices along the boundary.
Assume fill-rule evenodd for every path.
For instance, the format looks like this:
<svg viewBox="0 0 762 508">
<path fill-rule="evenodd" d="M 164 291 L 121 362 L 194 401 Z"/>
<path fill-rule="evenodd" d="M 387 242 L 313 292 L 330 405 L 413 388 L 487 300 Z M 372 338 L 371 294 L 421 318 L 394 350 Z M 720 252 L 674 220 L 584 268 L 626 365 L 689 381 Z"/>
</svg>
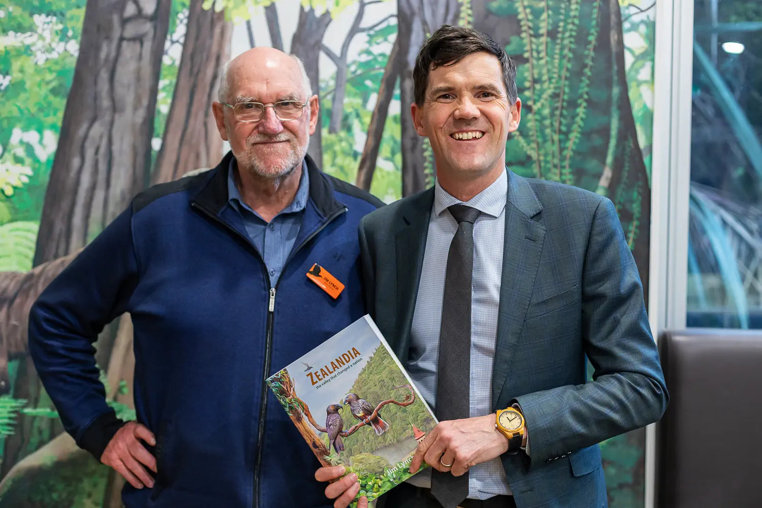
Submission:
<svg viewBox="0 0 762 508">
<path fill-rule="evenodd" d="M 373 108 L 373 115 L 370 117 L 368 126 L 368 135 L 365 139 L 363 156 L 360 158 L 360 165 L 357 168 L 357 180 L 355 185 L 360 189 L 370 190 L 370 184 L 373 182 L 373 171 L 376 170 L 376 159 L 379 156 L 381 148 L 381 137 L 383 136 L 386 117 L 389 115 L 389 103 L 394 97 L 394 85 L 399 76 L 399 37 L 394 41 L 392 53 L 386 60 L 386 67 L 383 69 L 381 84 L 379 85 L 378 99 L 376 107 Z M 402 114 L 406 112 L 403 111 Z"/>
</svg>

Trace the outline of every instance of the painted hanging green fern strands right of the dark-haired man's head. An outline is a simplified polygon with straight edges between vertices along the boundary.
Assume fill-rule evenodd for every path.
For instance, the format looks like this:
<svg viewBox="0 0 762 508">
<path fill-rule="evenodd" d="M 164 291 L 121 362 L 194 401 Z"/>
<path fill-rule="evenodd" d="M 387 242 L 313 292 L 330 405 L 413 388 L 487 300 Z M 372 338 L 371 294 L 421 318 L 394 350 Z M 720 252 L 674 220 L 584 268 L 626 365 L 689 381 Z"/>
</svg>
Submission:
<svg viewBox="0 0 762 508">
<path fill-rule="evenodd" d="M 507 161 L 514 171 L 527 176 L 575 184 L 571 158 L 577 152 L 588 107 L 599 3 L 553 3 L 553 10 L 548 2 L 530 0 L 491 5 L 495 14 L 518 16 L 521 34 L 511 37 L 506 51 L 527 60 L 517 69 L 517 86 L 523 91 L 527 113 L 523 129 L 515 136 L 517 143 L 508 144 L 512 153 Z M 581 34 L 579 24 L 588 19 L 587 33 Z M 555 37 L 550 33 L 553 28 Z M 578 50 L 580 43 L 584 51 Z M 600 168 L 596 169 L 594 174 L 600 174 Z"/>
</svg>

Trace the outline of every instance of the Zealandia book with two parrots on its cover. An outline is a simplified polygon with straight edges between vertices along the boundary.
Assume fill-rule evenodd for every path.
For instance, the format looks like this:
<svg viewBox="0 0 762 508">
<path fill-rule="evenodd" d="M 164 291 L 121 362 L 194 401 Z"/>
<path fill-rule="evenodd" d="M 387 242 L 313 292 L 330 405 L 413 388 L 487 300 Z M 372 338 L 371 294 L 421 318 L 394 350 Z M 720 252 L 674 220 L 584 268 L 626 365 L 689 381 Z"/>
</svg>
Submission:
<svg viewBox="0 0 762 508">
<path fill-rule="evenodd" d="M 409 468 L 418 443 L 437 425 L 369 315 L 280 369 L 267 385 L 322 465 L 357 473 L 360 492 L 351 506 L 415 474 Z"/>
</svg>

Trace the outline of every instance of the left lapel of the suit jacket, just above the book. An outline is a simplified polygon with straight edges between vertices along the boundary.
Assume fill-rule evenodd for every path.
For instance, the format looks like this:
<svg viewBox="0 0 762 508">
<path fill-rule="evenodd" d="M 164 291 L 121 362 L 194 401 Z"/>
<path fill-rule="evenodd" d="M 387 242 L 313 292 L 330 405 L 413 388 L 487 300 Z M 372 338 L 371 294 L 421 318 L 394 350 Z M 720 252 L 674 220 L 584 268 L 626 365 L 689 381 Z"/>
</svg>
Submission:
<svg viewBox="0 0 762 508">
<path fill-rule="evenodd" d="M 408 361 L 410 350 L 410 330 L 418 297 L 418 283 L 424 264 L 426 238 L 431 206 L 434 203 L 434 188 L 424 190 L 417 198 L 411 199 L 403 210 L 402 223 L 395 235 L 397 261 L 397 323 L 395 353 L 403 365 Z"/>
</svg>

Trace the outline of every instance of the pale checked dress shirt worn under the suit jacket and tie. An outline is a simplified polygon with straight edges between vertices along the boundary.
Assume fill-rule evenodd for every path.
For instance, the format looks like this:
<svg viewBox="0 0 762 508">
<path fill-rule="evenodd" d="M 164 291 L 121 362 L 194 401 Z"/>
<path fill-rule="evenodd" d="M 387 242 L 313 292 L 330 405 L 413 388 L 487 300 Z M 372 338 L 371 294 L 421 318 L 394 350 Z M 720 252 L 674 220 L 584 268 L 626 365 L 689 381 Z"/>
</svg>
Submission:
<svg viewBox="0 0 762 508">
<path fill-rule="evenodd" d="M 489 187 L 464 203 L 482 212 L 474 224 L 471 375 L 470 379 L 463 380 L 470 383 L 470 417 L 482 417 L 492 412 L 492 359 L 495 357 L 498 334 L 507 189 L 507 172 L 503 171 Z M 447 207 L 457 203 L 463 202 L 450 196 L 437 181 L 411 329 L 408 373 L 432 408 L 436 407 L 439 334 L 447 254 L 458 228 Z M 418 487 L 431 487 L 431 469 L 416 474 L 408 482 Z M 469 469 L 468 497 L 483 500 L 499 494 L 511 494 L 500 458 L 493 458 Z"/>
</svg>

